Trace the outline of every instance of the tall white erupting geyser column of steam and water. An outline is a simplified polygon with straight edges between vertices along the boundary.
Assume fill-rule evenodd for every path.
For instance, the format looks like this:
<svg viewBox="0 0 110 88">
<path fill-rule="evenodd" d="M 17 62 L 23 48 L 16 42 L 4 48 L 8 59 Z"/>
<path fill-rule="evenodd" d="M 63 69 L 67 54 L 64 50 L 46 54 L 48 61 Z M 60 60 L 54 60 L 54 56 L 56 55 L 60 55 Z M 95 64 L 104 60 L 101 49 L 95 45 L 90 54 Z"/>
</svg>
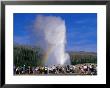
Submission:
<svg viewBox="0 0 110 88">
<path fill-rule="evenodd" d="M 44 50 L 45 66 L 70 64 L 65 52 L 66 27 L 61 17 L 38 15 L 35 20 L 37 44 Z"/>
</svg>

